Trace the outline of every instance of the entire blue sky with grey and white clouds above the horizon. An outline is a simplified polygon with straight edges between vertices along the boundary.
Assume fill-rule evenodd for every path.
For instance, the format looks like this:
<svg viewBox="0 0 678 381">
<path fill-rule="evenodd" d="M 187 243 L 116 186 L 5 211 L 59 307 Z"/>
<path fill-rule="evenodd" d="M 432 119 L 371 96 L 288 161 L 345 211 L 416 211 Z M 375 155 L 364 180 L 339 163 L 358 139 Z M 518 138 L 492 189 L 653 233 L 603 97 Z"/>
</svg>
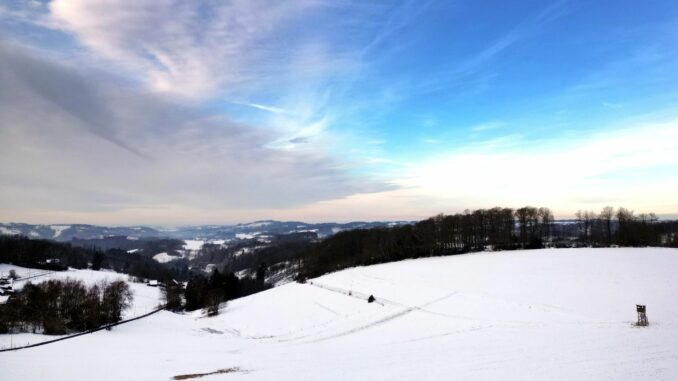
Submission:
<svg viewBox="0 0 678 381">
<path fill-rule="evenodd" d="M 0 221 L 678 215 L 674 1 L 0 3 Z"/>
</svg>

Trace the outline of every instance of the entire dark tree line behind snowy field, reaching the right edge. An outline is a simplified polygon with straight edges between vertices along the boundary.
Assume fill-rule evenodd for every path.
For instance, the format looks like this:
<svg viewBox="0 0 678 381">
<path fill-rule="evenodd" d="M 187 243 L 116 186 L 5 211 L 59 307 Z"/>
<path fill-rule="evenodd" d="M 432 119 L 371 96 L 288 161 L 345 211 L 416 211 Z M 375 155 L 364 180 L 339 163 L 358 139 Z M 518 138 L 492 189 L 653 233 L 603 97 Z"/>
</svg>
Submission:
<svg viewBox="0 0 678 381">
<path fill-rule="evenodd" d="M 547 246 L 678 246 L 678 222 L 625 208 L 577 212 L 572 222 L 555 222 L 548 208 L 492 208 L 437 215 L 413 225 L 338 233 L 298 253 L 299 277 L 346 267 L 480 250 Z"/>
</svg>

